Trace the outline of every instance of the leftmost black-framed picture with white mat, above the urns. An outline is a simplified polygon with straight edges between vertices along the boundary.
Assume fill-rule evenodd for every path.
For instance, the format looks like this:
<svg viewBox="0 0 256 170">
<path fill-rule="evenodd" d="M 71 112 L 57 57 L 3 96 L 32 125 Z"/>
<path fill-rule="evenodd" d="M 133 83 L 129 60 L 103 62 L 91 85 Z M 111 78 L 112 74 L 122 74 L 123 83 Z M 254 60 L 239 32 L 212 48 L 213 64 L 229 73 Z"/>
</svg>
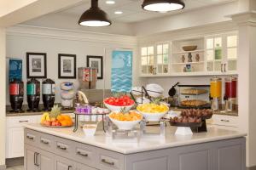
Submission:
<svg viewBox="0 0 256 170">
<path fill-rule="evenodd" d="M 46 53 L 26 53 L 26 77 L 46 78 Z"/>
</svg>

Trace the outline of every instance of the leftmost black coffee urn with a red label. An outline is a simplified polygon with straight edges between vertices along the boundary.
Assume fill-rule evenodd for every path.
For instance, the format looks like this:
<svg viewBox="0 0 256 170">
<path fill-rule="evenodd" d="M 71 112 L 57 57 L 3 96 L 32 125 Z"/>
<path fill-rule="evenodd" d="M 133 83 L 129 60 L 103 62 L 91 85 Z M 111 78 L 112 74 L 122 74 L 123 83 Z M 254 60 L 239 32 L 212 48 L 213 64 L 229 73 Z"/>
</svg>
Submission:
<svg viewBox="0 0 256 170">
<path fill-rule="evenodd" d="M 22 81 L 14 79 L 12 82 L 9 82 L 9 101 L 12 108 L 11 112 L 23 112 L 23 95 L 24 84 Z"/>
</svg>

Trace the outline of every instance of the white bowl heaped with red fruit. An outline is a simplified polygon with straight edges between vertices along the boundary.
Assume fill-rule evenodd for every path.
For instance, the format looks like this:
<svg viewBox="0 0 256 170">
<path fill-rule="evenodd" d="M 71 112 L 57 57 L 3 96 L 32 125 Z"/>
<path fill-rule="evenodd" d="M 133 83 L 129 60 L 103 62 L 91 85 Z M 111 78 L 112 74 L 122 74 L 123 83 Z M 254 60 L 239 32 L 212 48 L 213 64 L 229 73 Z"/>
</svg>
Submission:
<svg viewBox="0 0 256 170">
<path fill-rule="evenodd" d="M 127 95 L 120 96 L 119 98 L 110 97 L 104 99 L 104 105 L 110 111 L 130 111 L 134 105 L 134 100 Z"/>
</svg>

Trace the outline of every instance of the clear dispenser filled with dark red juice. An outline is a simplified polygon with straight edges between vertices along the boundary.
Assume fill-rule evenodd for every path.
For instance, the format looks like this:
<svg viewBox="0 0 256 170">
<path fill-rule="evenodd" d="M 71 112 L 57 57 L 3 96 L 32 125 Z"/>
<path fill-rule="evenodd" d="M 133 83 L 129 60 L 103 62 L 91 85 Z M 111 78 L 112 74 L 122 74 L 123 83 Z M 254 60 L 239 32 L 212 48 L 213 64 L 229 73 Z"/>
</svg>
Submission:
<svg viewBox="0 0 256 170">
<path fill-rule="evenodd" d="M 227 77 L 225 78 L 225 110 L 235 111 L 236 110 L 236 92 L 237 92 L 237 78 Z"/>
</svg>

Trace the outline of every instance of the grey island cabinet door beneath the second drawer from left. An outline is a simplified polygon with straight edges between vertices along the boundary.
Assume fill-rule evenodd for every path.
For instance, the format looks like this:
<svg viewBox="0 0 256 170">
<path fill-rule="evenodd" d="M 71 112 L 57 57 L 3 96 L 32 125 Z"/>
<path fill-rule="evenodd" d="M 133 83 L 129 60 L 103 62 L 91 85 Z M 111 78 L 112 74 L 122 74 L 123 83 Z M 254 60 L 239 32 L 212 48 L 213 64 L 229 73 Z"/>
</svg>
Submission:
<svg viewBox="0 0 256 170">
<path fill-rule="evenodd" d="M 54 170 L 55 169 L 55 156 L 44 150 L 40 150 L 39 155 L 40 170 Z"/>
</svg>

